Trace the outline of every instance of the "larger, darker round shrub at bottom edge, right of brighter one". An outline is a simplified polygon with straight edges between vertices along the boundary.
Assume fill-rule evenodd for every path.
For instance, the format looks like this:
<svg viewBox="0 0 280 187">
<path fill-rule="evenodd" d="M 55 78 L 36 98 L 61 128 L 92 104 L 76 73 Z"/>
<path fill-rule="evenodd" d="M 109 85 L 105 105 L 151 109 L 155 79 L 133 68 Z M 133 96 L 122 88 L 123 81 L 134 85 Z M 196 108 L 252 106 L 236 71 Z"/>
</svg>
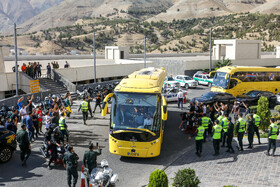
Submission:
<svg viewBox="0 0 280 187">
<path fill-rule="evenodd" d="M 178 170 L 173 178 L 173 186 L 175 187 L 197 187 L 200 183 L 195 171 L 191 168 Z"/>
</svg>

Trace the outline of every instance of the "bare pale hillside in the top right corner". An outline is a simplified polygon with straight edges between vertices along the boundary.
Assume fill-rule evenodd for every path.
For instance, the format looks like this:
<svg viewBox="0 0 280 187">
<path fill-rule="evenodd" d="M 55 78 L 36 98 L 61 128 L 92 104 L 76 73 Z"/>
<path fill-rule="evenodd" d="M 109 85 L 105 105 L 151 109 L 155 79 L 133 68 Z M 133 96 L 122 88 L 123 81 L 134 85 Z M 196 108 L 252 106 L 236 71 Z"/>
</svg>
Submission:
<svg viewBox="0 0 280 187">
<path fill-rule="evenodd" d="M 273 7 L 274 6 L 274 7 Z M 178 0 L 166 12 L 149 21 L 203 18 L 241 12 L 280 14 L 279 0 Z"/>
</svg>

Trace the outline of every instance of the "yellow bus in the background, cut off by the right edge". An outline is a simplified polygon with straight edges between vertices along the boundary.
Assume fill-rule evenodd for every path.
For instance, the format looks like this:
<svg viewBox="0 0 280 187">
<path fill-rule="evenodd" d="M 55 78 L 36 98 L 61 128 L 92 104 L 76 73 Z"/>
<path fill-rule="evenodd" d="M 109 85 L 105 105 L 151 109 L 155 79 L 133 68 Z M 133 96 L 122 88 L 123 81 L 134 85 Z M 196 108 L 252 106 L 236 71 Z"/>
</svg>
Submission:
<svg viewBox="0 0 280 187">
<path fill-rule="evenodd" d="M 251 90 L 280 92 L 280 68 L 226 66 L 215 73 L 211 91 L 234 97 Z"/>
</svg>

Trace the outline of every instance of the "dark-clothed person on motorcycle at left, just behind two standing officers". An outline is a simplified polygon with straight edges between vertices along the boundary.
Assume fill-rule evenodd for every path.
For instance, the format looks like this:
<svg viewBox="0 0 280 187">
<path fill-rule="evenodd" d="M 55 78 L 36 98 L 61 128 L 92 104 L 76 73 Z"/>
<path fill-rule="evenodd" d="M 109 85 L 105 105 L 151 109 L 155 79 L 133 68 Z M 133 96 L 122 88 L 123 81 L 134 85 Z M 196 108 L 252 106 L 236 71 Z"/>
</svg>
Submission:
<svg viewBox="0 0 280 187">
<path fill-rule="evenodd" d="M 48 169 L 51 169 L 51 163 L 57 159 L 57 146 L 61 146 L 61 142 L 63 141 L 62 137 L 59 134 L 58 128 L 53 130 L 53 133 L 48 133 L 48 151 L 51 151 Z M 47 151 L 47 152 L 48 152 Z"/>
</svg>

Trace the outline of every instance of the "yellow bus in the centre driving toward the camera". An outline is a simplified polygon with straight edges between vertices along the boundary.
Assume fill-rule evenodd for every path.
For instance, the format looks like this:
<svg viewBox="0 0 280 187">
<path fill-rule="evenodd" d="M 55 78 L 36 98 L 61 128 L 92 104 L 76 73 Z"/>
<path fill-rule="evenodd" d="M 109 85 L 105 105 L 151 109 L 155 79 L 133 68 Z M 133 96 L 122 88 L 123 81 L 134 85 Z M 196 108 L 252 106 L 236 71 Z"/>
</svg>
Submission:
<svg viewBox="0 0 280 187">
<path fill-rule="evenodd" d="M 163 141 L 167 105 L 161 95 L 166 71 L 145 68 L 124 78 L 102 106 L 107 114 L 111 98 L 109 151 L 126 157 L 156 157 Z"/>
</svg>

